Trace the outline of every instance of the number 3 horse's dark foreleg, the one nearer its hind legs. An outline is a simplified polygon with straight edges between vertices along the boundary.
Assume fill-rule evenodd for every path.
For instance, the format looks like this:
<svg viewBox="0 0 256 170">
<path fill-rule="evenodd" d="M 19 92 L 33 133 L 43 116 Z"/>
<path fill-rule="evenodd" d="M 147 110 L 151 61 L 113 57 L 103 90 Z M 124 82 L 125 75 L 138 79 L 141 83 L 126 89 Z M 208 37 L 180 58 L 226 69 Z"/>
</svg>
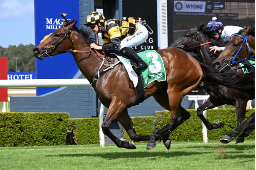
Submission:
<svg viewBox="0 0 256 170">
<path fill-rule="evenodd" d="M 128 115 L 127 109 L 125 109 L 118 117 L 117 120 L 122 124 L 122 127 L 126 130 L 131 140 L 134 141 L 149 141 L 150 135 L 137 135 L 131 117 Z"/>
</svg>

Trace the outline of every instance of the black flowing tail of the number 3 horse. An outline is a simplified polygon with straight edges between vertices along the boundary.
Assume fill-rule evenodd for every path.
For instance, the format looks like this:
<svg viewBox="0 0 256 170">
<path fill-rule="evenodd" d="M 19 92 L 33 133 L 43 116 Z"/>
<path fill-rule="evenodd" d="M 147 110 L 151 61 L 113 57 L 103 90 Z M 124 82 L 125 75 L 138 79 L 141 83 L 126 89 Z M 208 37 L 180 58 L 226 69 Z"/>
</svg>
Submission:
<svg viewBox="0 0 256 170">
<path fill-rule="evenodd" d="M 254 90 L 254 75 L 239 74 L 236 71 L 228 71 L 224 73 L 216 73 L 214 70 L 204 63 L 199 63 L 203 70 L 202 82 L 208 84 L 223 85 L 238 90 Z"/>
</svg>

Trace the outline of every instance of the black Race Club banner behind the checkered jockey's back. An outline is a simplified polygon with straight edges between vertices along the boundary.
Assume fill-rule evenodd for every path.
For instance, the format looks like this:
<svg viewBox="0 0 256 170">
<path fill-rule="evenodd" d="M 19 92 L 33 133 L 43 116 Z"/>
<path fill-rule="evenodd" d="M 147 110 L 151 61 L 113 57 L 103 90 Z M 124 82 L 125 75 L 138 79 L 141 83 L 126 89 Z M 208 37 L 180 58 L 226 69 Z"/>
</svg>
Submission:
<svg viewBox="0 0 256 170">
<path fill-rule="evenodd" d="M 141 49 L 158 49 L 157 43 L 157 0 L 123 0 L 123 19 L 134 18 L 148 29 L 148 39 L 134 51 Z"/>
</svg>

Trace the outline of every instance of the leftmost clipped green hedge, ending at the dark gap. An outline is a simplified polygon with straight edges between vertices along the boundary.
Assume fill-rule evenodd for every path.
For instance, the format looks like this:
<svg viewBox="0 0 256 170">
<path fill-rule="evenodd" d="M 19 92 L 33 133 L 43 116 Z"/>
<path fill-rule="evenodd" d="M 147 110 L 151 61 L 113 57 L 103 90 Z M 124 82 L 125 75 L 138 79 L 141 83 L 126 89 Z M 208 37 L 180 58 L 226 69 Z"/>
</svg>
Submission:
<svg viewBox="0 0 256 170">
<path fill-rule="evenodd" d="M 68 113 L 0 112 L 0 147 L 66 143 Z"/>
</svg>

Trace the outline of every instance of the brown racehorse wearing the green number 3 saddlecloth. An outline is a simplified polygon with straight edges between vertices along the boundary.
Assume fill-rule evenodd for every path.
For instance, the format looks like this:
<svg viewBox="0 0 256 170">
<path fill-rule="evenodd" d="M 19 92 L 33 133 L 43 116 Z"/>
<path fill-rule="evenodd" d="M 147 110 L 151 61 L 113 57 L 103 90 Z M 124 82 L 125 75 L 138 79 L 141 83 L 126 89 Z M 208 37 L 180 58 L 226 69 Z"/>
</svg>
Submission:
<svg viewBox="0 0 256 170">
<path fill-rule="evenodd" d="M 118 60 L 115 55 L 108 55 L 103 60 L 101 55 L 91 50 L 90 42 L 88 42 L 88 32 L 78 29 L 76 22 L 72 21 L 57 29 L 35 47 L 33 52 L 35 57 L 40 60 L 50 55 L 71 52 L 82 74 L 88 81 L 93 82 L 95 76 L 98 75 L 98 71 L 101 72 L 108 67 L 106 65 L 116 63 Z M 136 134 L 133 122 L 127 111 L 127 108 L 136 104 L 135 90 L 122 64 L 114 66 L 113 69 L 106 72 L 93 84 L 99 100 L 105 107 L 108 107 L 108 112 L 102 123 L 102 131 L 111 138 L 117 147 L 136 148 L 132 142 L 121 141 L 111 133 L 110 126 L 116 119 L 122 124 L 132 140 L 149 140 L 146 149 L 150 150 L 156 146 L 155 141 L 161 135 L 169 130 L 173 131 L 190 117 L 189 112 L 181 107 L 181 101 L 186 94 L 198 86 L 203 77 L 202 68 L 204 67 L 200 66 L 191 55 L 177 48 L 167 48 L 157 50 L 157 52 L 163 59 L 166 81 L 153 81 L 148 84 L 145 87 L 145 99 L 153 96 L 162 107 L 172 112 L 169 124 L 157 133 L 145 136 Z M 104 64 L 102 64 L 103 62 Z M 221 82 L 225 80 L 221 80 Z M 170 142 L 166 141 L 169 145 Z"/>
</svg>

